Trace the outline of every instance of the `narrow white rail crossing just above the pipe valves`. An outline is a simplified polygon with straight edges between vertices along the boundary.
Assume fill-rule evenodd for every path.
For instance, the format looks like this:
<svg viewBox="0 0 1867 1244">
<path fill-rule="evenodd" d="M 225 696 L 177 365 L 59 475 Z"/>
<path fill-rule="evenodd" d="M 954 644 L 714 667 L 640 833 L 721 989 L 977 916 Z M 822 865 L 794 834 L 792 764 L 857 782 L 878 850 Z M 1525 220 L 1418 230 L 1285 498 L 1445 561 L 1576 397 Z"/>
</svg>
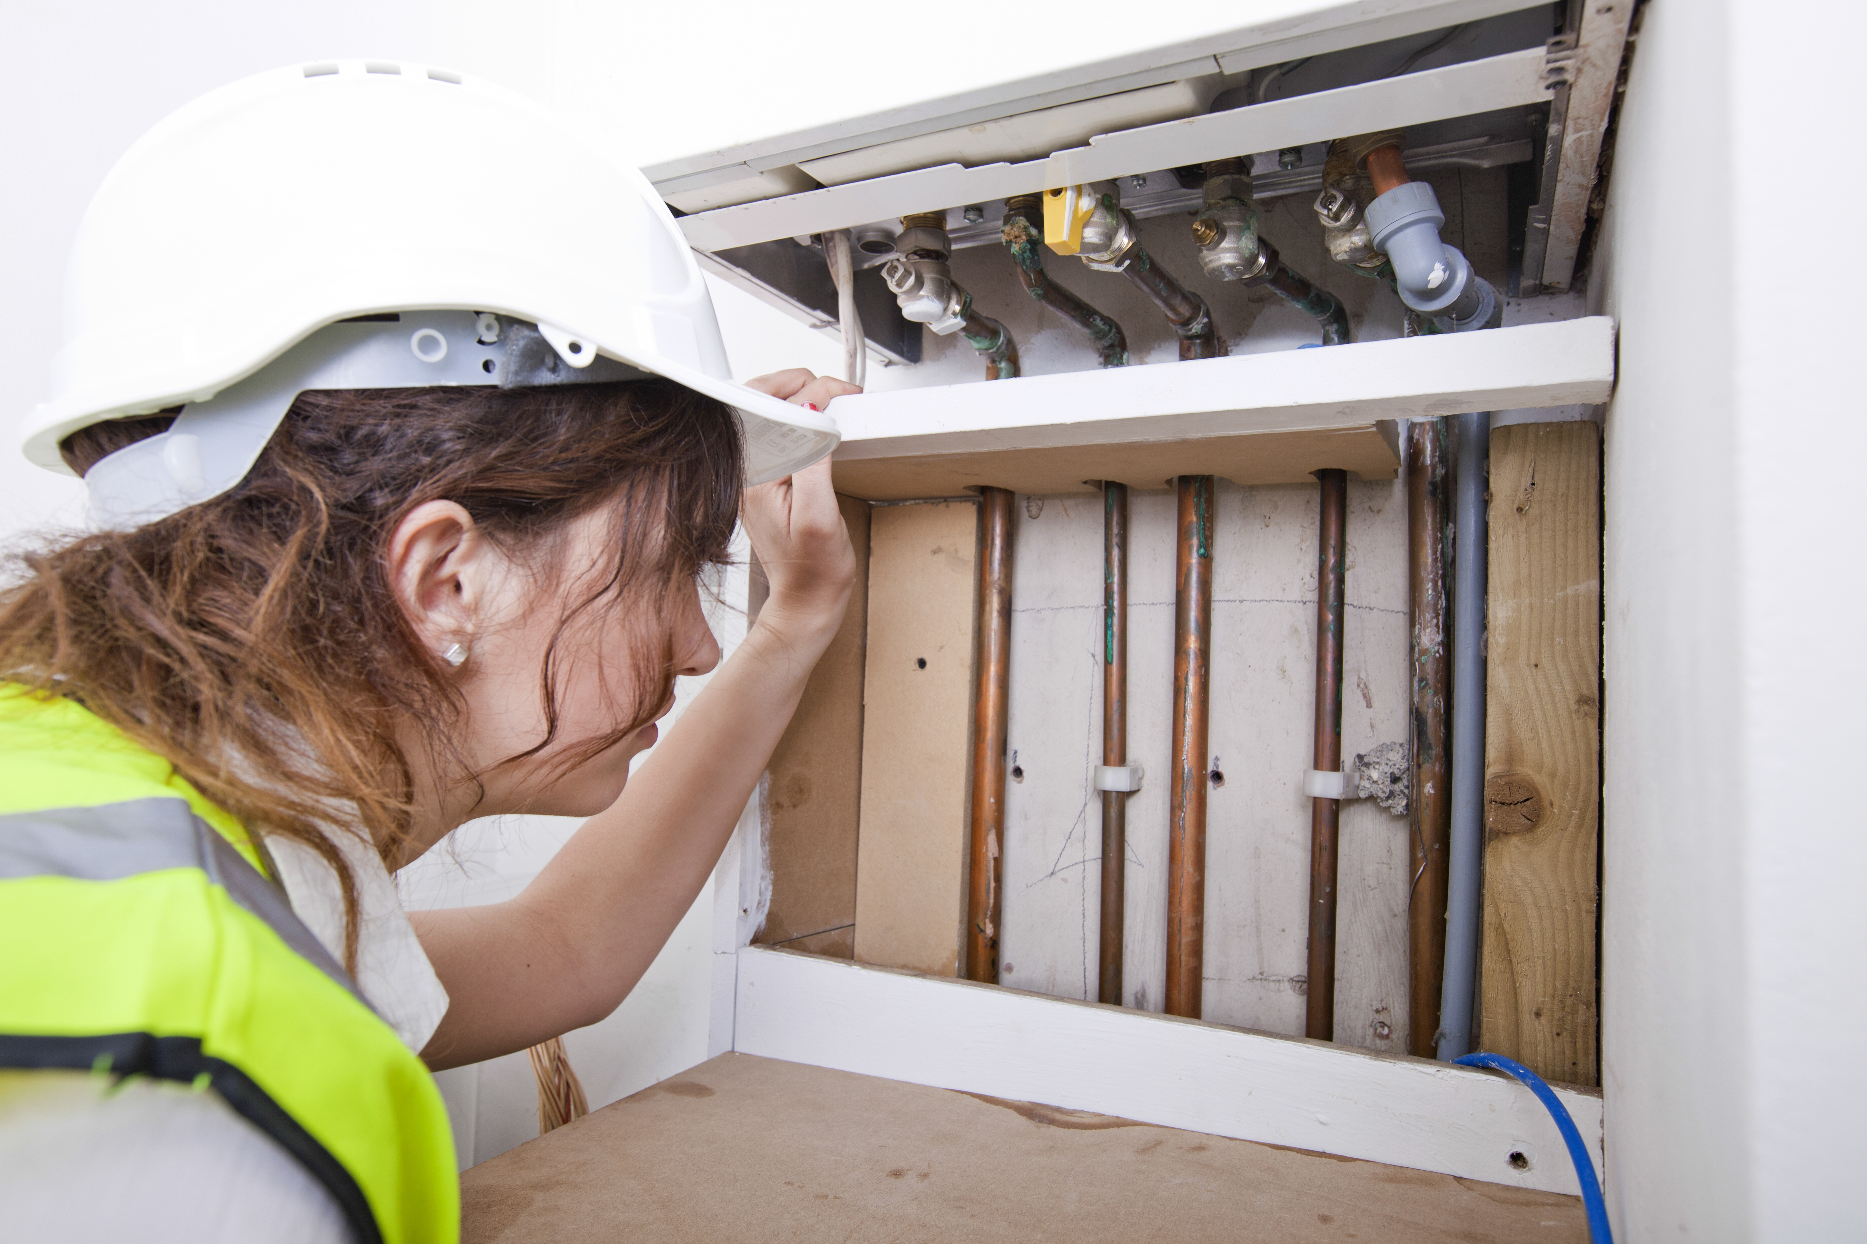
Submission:
<svg viewBox="0 0 1867 1244">
<path fill-rule="evenodd" d="M 848 229 L 952 203 L 986 203 L 1081 181 L 1544 103 L 1550 99 L 1550 88 L 1544 86 L 1544 48 L 1523 48 L 1398 78 L 1378 78 L 1333 91 L 1102 134 L 1090 138 L 1087 147 L 1057 151 L 1042 160 L 978 168 L 941 164 L 717 207 L 681 216 L 680 226 L 695 248 L 724 250 L 780 237 Z"/>
</svg>

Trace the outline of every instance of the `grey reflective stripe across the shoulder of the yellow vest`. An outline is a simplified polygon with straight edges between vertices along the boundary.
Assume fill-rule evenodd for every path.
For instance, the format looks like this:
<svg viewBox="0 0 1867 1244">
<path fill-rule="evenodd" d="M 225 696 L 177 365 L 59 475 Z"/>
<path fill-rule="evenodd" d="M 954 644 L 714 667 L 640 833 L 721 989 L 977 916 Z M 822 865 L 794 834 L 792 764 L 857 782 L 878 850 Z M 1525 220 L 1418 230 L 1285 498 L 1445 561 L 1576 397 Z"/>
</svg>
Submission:
<svg viewBox="0 0 1867 1244">
<path fill-rule="evenodd" d="M 162 869 L 200 869 L 258 916 L 301 959 L 368 1005 L 325 944 L 233 843 L 183 798 L 133 798 L 95 808 L 15 811 L 0 817 L 0 880 L 69 877 L 123 880 Z"/>
</svg>

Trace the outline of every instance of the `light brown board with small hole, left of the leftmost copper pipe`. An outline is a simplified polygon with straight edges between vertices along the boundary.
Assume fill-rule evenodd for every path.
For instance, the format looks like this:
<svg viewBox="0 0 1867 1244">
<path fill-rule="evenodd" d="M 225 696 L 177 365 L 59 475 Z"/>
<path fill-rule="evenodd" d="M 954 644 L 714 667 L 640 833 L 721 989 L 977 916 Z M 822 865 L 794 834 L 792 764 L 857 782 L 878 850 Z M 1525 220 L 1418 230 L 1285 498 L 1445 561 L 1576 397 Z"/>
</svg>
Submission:
<svg viewBox="0 0 1867 1244">
<path fill-rule="evenodd" d="M 877 505 L 868 552 L 855 959 L 960 972 L 978 504 Z"/>
</svg>

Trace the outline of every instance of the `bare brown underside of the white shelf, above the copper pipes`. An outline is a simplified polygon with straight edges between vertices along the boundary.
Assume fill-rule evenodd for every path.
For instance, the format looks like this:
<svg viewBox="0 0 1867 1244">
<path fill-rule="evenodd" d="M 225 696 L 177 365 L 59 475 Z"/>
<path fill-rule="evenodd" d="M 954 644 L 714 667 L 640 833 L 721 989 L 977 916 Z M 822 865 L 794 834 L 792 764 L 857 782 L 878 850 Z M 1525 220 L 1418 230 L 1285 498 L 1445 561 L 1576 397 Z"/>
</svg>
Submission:
<svg viewBox="0 0 1867 1244">
<path fill-rule="evenodd" d="M 1339 466 L 1363 479 L 1391 479 L 1398 459 L 1387 436 L 1365 423 L 1197 440 L 836 459 L 831 474 L 838 492 L 870 502 L 900 502 L 962 496 L 982 485 L 1038 496 L 1094 492 L 1087 483 L 1090 479 L 1115 479 L 1131 489 L 1159 489 L 1174 476 L 1219 476 L 1232 483 L 1307 483 L 1311 472 L 1324 466 Z"/>
</svg>

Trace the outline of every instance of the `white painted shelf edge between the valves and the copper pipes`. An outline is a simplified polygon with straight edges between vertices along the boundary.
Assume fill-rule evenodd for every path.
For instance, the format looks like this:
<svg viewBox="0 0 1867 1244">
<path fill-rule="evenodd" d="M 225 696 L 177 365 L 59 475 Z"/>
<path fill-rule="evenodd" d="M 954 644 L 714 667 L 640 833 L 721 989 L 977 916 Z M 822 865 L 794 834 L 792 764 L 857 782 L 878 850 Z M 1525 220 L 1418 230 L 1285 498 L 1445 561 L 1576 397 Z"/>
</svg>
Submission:
<svg viewBox="0 0 1867 1244">
<path fill-rule="evenodd" d="M 1606 315 L 836 397 L 836 461 L 1367 427 L 1607 401 Z"/>
</svg>

